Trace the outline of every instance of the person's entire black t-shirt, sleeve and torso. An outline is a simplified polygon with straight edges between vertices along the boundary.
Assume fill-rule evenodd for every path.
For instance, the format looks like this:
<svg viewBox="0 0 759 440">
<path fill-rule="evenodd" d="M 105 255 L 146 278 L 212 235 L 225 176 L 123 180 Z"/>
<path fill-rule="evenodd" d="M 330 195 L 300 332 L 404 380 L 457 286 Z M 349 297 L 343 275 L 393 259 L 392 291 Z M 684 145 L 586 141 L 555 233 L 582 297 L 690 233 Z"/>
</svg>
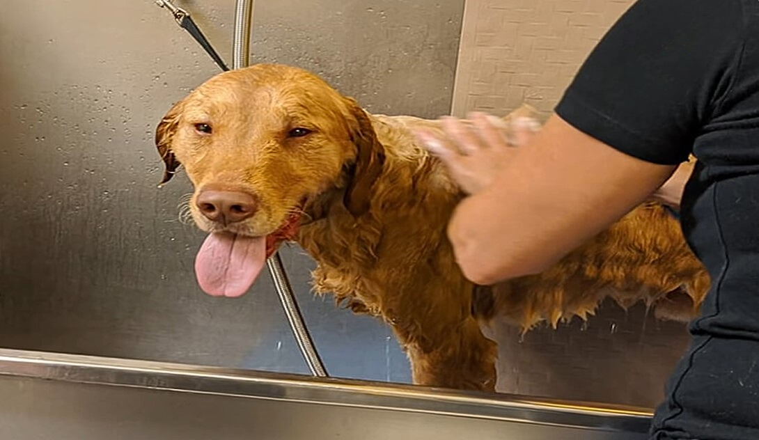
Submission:
<svg viewBox="0 0 759 440">
<path fill-rule="evenodd" d="M 698 158 L 682 228 L 712 288 L 651 438 L 759 438 L 759 0 L 639 0 L 556 113 L 638 159 Z"/>
</svg>

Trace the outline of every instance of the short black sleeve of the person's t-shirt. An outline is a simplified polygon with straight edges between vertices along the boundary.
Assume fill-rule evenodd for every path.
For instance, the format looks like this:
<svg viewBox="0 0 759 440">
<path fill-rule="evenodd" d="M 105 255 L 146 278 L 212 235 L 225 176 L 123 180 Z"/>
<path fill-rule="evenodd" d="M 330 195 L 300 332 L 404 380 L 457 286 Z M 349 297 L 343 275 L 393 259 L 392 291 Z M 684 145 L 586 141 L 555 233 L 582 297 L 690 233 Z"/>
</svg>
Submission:
<svg viewBox="0 0 759 440">
<path fill-rule="evenodd" d="M 687 159 L 739 69 L 742 1 L 638 0 L 588 56 L 556 114 L 638 159 Z"/>
</svg>

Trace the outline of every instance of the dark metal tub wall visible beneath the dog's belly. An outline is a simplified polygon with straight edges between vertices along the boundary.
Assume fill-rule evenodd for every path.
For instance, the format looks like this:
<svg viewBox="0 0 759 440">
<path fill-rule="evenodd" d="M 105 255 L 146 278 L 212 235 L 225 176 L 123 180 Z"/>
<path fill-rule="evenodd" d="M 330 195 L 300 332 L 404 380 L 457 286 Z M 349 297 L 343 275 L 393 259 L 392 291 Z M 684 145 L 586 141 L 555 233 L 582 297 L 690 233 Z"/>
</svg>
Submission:
<svg viewBox="0 0 759 440">
<path fill-rule="evenodd" d="M 554 330 L 496 326 L 499 383 L 509 394 L 653 408 L 688 345 L 679 322 L 661 322 L 643 304 L 622 310 L 602 304 L 587 322 L 575 319 Z"/>
</svg>

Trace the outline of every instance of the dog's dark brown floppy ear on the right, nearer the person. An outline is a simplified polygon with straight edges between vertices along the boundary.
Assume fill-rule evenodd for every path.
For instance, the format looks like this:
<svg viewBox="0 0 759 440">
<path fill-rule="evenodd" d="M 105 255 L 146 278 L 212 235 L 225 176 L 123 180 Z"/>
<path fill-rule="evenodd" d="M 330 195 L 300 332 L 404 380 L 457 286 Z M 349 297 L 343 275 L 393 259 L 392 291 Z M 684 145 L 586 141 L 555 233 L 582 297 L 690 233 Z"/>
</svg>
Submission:
<svg viewBox="0 0 759 440">
<path fill-rule="evenodd" d="M 354 217 L 369 211 L 374 182 L 382 174 L 385 149 L 379 143 L 369 116 L 353 99 L 348 99 L 351 141 L 357 149 L 356 162 L 348 177 L 343 203 Z"/>
</svg>

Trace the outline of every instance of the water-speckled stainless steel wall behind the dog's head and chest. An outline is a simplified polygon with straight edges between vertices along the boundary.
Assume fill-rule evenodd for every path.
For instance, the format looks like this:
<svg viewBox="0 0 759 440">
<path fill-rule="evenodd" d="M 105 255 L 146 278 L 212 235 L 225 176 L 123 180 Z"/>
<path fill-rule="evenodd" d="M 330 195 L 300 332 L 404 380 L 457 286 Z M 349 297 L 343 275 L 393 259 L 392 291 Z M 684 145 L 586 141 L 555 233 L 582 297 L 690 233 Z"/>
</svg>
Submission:
<svg viewBox="0 0 759 440">
<path fill-rule="evenodd" d="M 178 1 L 227 60 L 233 0 Z M 216 66 L 152 1 L 4 0 L 0 14 L 0 346 L 307 372 L 266 277 L 238 300 L 193 275 L 202 234 L 178 222 L 184 176 L 156 188 L 153 130 Z M 373 112 L 449 112 L 463 0 L 256 2 L 251 62 L 297 64 Z M 308 291 L 336 376 L 408 381 L 373 319 Z"/>
</svg>

